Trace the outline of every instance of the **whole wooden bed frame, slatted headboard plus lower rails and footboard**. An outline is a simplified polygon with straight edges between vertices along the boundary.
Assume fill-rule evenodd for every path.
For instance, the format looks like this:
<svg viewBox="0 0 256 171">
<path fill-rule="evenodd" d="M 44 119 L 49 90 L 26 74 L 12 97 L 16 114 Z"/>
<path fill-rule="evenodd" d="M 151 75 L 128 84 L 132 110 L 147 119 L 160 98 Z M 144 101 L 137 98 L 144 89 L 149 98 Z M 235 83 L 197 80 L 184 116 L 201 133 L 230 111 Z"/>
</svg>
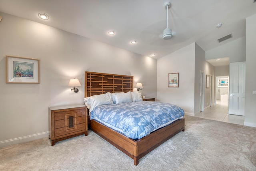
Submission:
<svg viewBox="0 0 256 171">
<path fill-rule="evenodd" d="M 133 76 L 85 72 L 85 97 L 102 93 L 133 91 Z M 90 120 L 90 129 L 106 141 L 120 149 L 126 155 L 134 159 L 134 165 L 138 165 L 139 159 L 150 151 L 179 133 L 184 131 L 184 118 L 170 125 L 162 127 L 150 135 L 134 140 L 113 129 L 102 125 L 98 121 Z"/>
</svg>

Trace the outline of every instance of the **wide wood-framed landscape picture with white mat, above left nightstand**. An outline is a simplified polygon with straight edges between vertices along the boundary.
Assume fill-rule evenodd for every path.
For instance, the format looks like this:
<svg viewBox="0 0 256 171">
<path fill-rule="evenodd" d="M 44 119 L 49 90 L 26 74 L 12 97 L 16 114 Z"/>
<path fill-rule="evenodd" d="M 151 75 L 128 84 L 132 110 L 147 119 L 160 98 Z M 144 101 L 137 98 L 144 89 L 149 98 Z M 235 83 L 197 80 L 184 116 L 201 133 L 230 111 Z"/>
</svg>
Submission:
<svg viewBox="0 0 256 171">
<path fill-rule="evenodd" d="M 40 60 L 6 55 L 6 83 L 40 84 Z"/>
</svg>

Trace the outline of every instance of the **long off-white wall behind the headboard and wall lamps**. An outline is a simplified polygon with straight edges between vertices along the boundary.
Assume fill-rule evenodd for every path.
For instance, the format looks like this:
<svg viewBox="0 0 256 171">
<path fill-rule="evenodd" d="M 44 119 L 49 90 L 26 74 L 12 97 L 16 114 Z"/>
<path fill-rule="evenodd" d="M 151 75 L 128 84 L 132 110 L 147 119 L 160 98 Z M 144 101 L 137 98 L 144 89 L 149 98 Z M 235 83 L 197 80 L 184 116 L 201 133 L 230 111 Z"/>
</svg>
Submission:
<svg viewBox="0 0 256 171">
<path fill-rule="evenodd" d="M 48 107 L 84 103 L 84 72 L 134 76 L 156 97 L 157 61 L 0 12 L 0 147 L 48 136 Z M 40 59 L 40 84 L 6 84 L 6 55 Z M 68 82 L 78 78 L 74 93 Z M 167 84 L 167 83 L 166 83 Z"/>
</svg>

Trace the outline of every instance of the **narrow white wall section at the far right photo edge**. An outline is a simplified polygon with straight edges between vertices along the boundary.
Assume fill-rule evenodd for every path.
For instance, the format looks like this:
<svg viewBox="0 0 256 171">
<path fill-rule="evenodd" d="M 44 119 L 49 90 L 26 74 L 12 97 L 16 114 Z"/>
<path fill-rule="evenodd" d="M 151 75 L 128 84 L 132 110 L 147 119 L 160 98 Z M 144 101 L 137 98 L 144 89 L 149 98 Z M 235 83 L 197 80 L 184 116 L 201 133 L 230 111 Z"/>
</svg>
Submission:
<svg viewBox="0 0 256 171">
<path fill-rule="evenodd" d="M 246 18 L 246 85 L 244 125 L 256 127 L 256 14 Z"/>
</svg>

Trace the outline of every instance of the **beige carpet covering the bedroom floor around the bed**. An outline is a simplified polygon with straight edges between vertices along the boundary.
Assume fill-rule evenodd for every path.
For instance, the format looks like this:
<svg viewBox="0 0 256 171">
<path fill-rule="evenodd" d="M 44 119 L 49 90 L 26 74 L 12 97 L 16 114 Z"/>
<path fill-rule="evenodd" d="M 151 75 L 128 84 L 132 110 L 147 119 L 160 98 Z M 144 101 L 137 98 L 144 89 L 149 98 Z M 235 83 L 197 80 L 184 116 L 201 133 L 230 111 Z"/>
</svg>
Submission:
<svg viewBox="0 0 256 171">
<path fill-rule="evenodd" d="M 89 131 L 50 145 L 48 138 L 0 149 L 1 171 L 256 171 L 256 128 L 185 116 L 180 132 L 139 160 Z"/>
</svg>

